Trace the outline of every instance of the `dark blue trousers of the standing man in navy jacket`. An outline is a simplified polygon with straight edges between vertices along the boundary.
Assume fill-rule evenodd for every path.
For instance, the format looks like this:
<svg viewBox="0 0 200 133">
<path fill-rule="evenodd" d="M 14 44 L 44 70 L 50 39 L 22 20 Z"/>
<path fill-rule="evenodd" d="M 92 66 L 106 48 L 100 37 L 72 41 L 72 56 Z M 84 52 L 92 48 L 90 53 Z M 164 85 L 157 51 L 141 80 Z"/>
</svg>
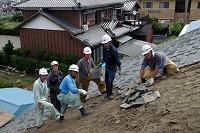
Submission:
<svg viewBox="0 0 200 133">
<path fill-rule="evenodd" d="M 105 83 L 106 83 L 106 92 L 107 92 L 107 96 L 112 96 L 113 92 L 113 81 L 115 79 L 115 73 L 116 71 L 110 68 L 106 68 L 105 71 Z"/>
</svg>

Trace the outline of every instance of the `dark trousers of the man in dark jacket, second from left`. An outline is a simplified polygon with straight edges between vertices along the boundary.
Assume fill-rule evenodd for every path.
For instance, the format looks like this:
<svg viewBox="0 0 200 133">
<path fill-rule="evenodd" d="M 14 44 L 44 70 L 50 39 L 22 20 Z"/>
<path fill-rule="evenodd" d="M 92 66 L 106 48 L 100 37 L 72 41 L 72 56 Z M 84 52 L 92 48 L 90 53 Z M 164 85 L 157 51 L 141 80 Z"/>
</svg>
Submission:
<svg viewBox="0 0 200 133">
<path fill-rule="evenodd" d="M 57 99 L 57 93 L 50 90 L 50 100 L 54 107 L 60 112 L 61 104 L 60 101 Z"/>
</svg>

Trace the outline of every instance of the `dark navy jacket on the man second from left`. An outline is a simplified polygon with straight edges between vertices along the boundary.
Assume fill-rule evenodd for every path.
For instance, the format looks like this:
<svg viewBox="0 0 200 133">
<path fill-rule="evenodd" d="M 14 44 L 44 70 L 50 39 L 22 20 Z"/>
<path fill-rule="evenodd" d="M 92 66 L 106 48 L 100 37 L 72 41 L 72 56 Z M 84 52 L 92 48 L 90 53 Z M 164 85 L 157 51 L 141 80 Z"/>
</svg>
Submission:
<svg viewBox="0 0 200 133">
<path fill-rule="evenodd" d="M 58 71 L 57 74 L 55 74 L 54 72 L 50 72 L 47 78 L 47 85 L 50 88 L 50 91 L 59 93 L 59 86 L 63 78 L 64 76 L 61 71 Z"/>
</svg>

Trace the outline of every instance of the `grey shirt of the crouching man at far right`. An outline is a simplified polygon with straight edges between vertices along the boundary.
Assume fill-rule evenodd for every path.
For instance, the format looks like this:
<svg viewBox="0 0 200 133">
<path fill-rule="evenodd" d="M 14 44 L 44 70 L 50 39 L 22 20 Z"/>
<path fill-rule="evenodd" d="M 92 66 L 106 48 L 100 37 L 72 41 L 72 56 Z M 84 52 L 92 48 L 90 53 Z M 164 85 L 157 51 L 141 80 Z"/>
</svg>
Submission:
<svg viewBox="0 0 200 133">
<path fill-rule="evenodd" d="M 153 70 L 156 69 L 157 67 L 160 67 L 160 69 L 164 69 L 164 67 L 167 65 L 169 62 L 169 58 L 162 52 L 155 52 L 153 54 L 153 58 L 147 59 L 143 58 L 142 65 L 141 65 L 141 70 L 144 70 L 147 66 L 152 68 Z"/>
</svg>

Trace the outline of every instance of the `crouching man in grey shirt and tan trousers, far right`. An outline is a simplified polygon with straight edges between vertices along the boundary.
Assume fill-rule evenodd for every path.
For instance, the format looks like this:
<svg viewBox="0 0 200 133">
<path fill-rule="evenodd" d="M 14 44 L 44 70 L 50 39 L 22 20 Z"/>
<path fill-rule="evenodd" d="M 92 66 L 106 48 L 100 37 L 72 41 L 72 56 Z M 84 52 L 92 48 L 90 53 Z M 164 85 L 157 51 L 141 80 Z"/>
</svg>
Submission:
<svg viewBox="0 0 200 133">
<path fill-rule="evenodd" d="M 179 71 L 178 66 L 164 53 L 154 52 L 150 45 L 142 47 L 142 55 L 144 58 L 140 69 L 140 83 L 142 80 L 147 80 L 147 86 L 151 86 L 159 71 L 163 74 L 173 74 Z"/>
</svg>

